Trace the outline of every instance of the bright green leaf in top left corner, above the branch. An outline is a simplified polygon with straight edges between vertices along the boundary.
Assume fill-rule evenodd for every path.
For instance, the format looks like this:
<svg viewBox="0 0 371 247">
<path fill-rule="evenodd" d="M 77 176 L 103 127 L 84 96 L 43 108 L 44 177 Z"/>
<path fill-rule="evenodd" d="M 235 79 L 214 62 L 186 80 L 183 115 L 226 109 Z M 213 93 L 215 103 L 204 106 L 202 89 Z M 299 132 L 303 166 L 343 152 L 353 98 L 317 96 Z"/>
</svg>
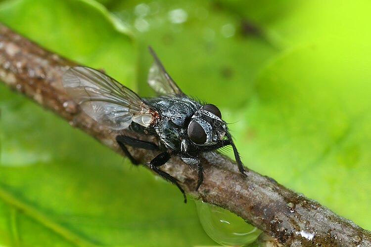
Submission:
<svg viewBox="0 0 371 247">
<path fill-rule="evenodd" d="M 136 81 L 133 35 L 93 0 L 7 1 L 0 6 L 0 21 L 65 57 L 104 69 L 127 86 Z"/>
</svg>

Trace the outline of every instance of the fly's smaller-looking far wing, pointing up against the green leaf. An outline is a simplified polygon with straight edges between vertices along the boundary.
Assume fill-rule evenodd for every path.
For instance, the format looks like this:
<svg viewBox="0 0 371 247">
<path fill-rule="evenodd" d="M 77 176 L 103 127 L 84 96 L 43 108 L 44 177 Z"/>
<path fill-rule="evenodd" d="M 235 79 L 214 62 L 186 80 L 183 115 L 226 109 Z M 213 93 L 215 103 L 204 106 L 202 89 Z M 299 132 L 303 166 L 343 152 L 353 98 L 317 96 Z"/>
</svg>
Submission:
<svg viewBox="0 0 371 247">
<path fill-rule="evenodd" d="M 161 64 L 151 47 L 149 47 L 149 51 L 151 52 L 154 61 L 149 69 L 148 84 L 158 94 L 184 95 L 182 90 L 166 72 L 164 66 Z"/>
</svg>

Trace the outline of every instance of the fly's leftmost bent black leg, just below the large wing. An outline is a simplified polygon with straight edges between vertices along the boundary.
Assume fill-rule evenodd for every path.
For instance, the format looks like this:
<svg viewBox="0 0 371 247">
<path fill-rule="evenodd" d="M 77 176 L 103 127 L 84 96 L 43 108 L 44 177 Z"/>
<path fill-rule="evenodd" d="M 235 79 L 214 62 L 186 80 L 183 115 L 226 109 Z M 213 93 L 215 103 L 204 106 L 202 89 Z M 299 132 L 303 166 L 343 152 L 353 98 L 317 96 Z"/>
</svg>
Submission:
<svg viewBox="0 0 371 247">
<path fill-rule="evenodd" d="M 134 165 L 139 165 L 139 162 L 136 159 L 134 159 L 134 157 L 129 153 L 129 150 L 126 148 L 125 145 L 129 145 L 135 148 L 143 148 L 147 150 L 159 150 L 159 147 L 152 142 L 142 141 L 125 135 L 116 136 L 116 141 L 119 144 L 122 151 L 124 152 L 124 154 L 126 155 L 126 157 L 128 157 L 129 160 Z"/>
</svg>

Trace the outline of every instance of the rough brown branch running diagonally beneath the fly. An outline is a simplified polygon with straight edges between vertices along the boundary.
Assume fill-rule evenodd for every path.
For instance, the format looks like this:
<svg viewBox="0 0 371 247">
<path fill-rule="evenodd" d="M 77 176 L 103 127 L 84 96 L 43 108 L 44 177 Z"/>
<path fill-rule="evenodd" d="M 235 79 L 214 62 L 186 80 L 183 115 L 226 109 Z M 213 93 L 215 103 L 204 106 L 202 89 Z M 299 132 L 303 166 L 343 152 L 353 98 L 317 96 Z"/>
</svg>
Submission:
<svg viewBox="0 0 371 247">
<path fill-rule="evenodd" d="M 0 80 L 120 152 L 115 142 L 117 132 L 94 122 L 65 93 L 61 77 L 74 65 L 76 63 L 0 25 Z M 152 138 L 123 132 L 143 140 Z M 130 149 L 130 152 L 143 164 L 156 155 L 154 151 L 140 149 Z M 172 165 L 164 170 L 179 179 L 187 193 L 231 210 L 277 243 L 285 246 L 371 246 L 369 231 L 275 180 L 252 170 L 243 178 L 236 164 L 222 155 L 204 154 L 201 159 L 206 176 L 197 192 L 194 191 L 196 172 L 179 158 L 174 158 Z M 179 197 L 182 200 L 181 195 Z"/>
</svg>

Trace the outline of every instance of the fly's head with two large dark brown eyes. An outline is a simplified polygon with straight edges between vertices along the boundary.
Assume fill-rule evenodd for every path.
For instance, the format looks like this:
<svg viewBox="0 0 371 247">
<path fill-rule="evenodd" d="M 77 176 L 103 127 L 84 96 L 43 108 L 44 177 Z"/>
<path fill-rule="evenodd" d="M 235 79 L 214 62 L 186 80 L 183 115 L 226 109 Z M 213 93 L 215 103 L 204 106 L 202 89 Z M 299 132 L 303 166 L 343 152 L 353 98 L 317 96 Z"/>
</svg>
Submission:
<svg viewBox="0 0 371 247">
<path fill-rule="evenodd" d="M 215 105 L 207 104 L 194 113 L 187 131 L 194 144 L 211 146 L 226 138 L 227 128 L 220 110 Z"/>
</svg>

